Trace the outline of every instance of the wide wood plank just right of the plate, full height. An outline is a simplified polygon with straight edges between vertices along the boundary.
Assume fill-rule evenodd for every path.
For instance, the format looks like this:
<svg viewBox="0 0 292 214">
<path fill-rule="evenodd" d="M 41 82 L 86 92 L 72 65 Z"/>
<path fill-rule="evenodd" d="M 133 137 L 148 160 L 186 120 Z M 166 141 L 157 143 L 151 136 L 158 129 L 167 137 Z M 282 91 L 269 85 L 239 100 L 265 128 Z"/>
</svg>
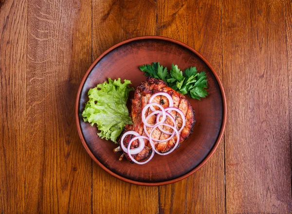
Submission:
<svg viewBox="0 0 292 214">
<path fill-rule="evenodd" d="M 226 208 L 291 213 L 285 1 L 222 1 Z"/>
</svg>

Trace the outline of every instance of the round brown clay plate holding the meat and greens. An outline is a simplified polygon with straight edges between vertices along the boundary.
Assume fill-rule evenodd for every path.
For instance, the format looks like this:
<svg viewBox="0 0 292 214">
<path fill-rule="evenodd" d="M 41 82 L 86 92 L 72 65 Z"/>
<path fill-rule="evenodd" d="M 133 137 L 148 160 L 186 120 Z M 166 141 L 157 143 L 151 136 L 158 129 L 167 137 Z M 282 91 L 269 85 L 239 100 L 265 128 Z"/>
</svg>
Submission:
<svg viewBox="0 0 292 214">
<path fill-rule="evenodd" d="M 208 79 L 207 98 L 188 98 L 196 113 L 193 134 L 181 146 L 166 156 L 154 155 L 145 165 L 131 164 L 110 141 L 100 139 L 96 126 L 83 122 L 81 113 L 88 101 L 88 90 L 111 79 L 128 79 L 134 87 L 146 80 L 139 66 L 160 62 L 171 68 L 172 62 L 181 70 L 196 66 Z M 101 54 L 86 72 L 76 100 L 76 123 L 81 141 L 91 158 L 116 178 L 138 185 L 156 186 L 176 182 L 196 172 L 212 156 L 223 135 L 226 121 L 225 94 L 212 66 L 201 54 L 182 42 L 161 37 L 142 36 L 120 42 Z"/>
</svg>

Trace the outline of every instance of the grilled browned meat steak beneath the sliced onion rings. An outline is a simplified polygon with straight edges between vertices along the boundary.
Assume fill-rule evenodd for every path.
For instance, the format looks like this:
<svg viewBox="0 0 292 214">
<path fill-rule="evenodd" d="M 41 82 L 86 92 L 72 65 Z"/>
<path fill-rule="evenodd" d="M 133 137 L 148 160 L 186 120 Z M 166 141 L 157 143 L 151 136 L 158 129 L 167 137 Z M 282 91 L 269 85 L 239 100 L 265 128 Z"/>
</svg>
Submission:
<svg viewBox="0 0 292 214">
<path fill-rule="evenodd" d="M 174 107 L 178 107 L 183 111 L 183 114 L 186 119 L 185 126 L 180 134 L 180 143 L 181 144 L 188 136 L 192 133 L 193 127 L 195 124 L 195 113 L 193 108 L 191 107 L 190 103 L 187 101 L 187 99 L 180 94 L 179 92 L 169 88 L 164 81 L 154 79 L 152 77 L 148 77 L 146 81 L 143 81 L 140 86 L 138 86 L 135 89 L 135 95 L 134 99 L 132 99 L 132 111 L 131 111 L 131 117 L 133 121 L 133 125 L 126 125 L 125 131 L 133 130 L 138 132 L 140 135 L 146 136 L 143 128 L 143 122 L 142 122 L 142 109 L 148 104 L 149 98 L 156 92 L 166 92 L 169 95 L 172 96 Z M 157 96 L 154 98 L 152 102 L 159 103 L 164 108 L 169 106 L 168 99 L 164 96 Z M 158 107 L 154 107 L 156 109 L 159 109 Z M 150 114 L 152 111 L 150 109 L 147 109 L 146 114 Z M 173 118 L 175 119 L 177 129 L 179 130 L 182 127 L 182 118 L 179 113 L 176 111 L 172 111 L 170 113 Z M 156 120 L 156 115 L 153 115 L 149 118 L 148 124 L 154 123 Z M 173 125 L 173 122 L 170 120 L 170 118 L 166 117 L 165 123 Z M 147 127 L 148 133 L 151 131 L 150 127 Z M 172 132 L 171 128 L 164 127 L 164 130 Z M 127 147 L 128 142 L 131 140 L 133 136 L 128 135 L 124 139 L 124 145 Z M 161 132 L 158 128 L 156 128 L 153 131 L 152 137 L 159 140 L 164 140 L 169 137 L 169 135 L 164 134 Z M 177 141 L 177 136 L 175 135 L 171 140 L 167 142 L 157 143 L 156 144 L 156 150 L 161 153 L 168 152 L 170 149 L 172 149 Z M 121 142 L 119 142 L 121 143 Z M 139 145 L 139 141 L 136 140 L 131 144 L 131 149 L 136 148 Z M 137 161 L 141 161 L 146 159 L 152 152 L 151 145 L 149 141 L 145 140 L 145 147 L 144 149 L 138 153 L 137 155 L 133 155 L 133 158 Z M 126 157 L 129 159 L 128 154 L 126 154 Z"/>
</svg>

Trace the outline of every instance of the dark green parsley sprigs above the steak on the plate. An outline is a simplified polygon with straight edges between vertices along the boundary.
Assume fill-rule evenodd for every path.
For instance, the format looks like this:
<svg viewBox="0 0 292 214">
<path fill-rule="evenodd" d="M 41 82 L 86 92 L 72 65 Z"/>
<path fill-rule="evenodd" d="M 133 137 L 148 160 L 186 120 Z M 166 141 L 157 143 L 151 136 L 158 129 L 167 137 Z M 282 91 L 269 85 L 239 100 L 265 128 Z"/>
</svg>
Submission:
<svg viewBox="0 0 292 214">
<path fill-rule="evenodd" d="M 152 65 L 143 65 L 139 67 L 145 72 L 146 76 L 152 76 L 155 79 L 163 80 L 172 89 L 184 94 L 187 94 L 193 99 L 201 100 L 201 97 L 206 97 L 207 75 L 204 71 L 200 73 L 196 67 L 190 67 L 181 71 L 177 65 L 171 66 L 170 72 L 166 67 L 160 65 L 159 62 L 153 62 Z"/>
</svg>

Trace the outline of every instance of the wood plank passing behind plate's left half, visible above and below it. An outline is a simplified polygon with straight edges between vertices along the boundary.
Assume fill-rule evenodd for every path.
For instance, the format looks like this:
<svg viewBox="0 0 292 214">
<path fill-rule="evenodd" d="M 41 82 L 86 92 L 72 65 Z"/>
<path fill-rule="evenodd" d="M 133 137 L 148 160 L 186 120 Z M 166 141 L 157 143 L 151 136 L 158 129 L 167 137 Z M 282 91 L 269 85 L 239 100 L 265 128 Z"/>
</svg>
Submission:
<svg viewBox="0 0 292 214">
<path fill-rule="evenodd" d="M 125 39 L 155 35 L 156 2 L 93 0 L 92 60 Z M 93 163 L 93 213 L 158 212 L 158 187 L 136 186 L 118 180 Z"/>
</svg>

